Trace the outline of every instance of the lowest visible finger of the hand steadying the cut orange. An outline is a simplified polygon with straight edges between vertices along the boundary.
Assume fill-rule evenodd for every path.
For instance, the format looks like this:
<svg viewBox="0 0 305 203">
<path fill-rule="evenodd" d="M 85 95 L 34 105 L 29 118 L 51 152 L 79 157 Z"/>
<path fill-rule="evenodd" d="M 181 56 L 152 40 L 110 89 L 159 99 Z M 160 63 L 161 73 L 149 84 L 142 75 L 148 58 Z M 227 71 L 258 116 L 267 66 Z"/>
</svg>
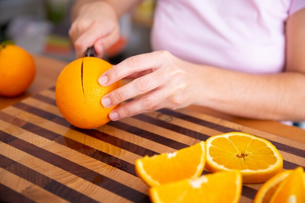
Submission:
<svg viewBox="0 0 305 203">
<path fill-rule="evenodd" d="M 133 100 L 123 106 L 120 106 L 110 112 L 109 117 L 111 120 L 116 121 L 124 117 L 133 116 L 139 113 L 154 111 L 161 109 L 162 106 L 159 105 L 161 102 L 168 98 L 169 94 L 164 90 L 165 88 L 155 89 L 154 91 L 146 94 L 145 96 Z"/>
</svg>

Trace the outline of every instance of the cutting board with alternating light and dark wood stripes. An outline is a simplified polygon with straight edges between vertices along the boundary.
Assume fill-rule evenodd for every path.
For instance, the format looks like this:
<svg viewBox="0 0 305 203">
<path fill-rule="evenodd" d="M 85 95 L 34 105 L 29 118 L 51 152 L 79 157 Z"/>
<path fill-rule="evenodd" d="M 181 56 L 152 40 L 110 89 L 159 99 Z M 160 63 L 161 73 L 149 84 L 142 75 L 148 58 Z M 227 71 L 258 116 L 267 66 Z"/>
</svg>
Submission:
<svg viewBox="0 0 305 203">
<path fill-rule="evenodd" d="M 305 144 L 205 114 L 160 110 L 93 130 L 71 126 L 54 88 L 0 111 L 0 201 L 17 203 L 149 203 L 134 161 L 173 152 L 212 135 L 244 131 L 271 141 L 284 168 L 305 166 Z M 251 203 L 261 185 L 244 185 Z"/>
</svg>

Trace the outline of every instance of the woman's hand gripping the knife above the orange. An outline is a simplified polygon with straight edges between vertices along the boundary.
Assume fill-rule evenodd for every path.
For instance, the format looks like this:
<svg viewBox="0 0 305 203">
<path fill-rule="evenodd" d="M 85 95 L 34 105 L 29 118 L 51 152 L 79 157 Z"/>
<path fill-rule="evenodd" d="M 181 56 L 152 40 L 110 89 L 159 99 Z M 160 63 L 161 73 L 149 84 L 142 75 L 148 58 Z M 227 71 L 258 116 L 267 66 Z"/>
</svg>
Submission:
<svg viewBox="0 0 305 203">
<path fill-rule="evenodd" d="M 114 7 L 106 1 L 95 1 L 82 5 L 71 25 L 69 35 L 82 57 L 88 47 L 94 46 L 98 57 L 119 38 L 119 25 Z"/>
</svg>

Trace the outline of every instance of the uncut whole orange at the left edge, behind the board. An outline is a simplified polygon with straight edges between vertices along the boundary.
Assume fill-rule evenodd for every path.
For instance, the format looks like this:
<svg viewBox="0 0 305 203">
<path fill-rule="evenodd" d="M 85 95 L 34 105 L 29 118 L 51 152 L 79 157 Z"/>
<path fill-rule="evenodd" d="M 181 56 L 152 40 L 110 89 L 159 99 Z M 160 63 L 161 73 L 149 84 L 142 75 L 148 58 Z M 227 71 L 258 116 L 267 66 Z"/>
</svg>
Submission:
<svg viewBox="0 0 305 203">
<path fill-rule="evenodd" d="M 13 44 L 0 45 L 0 95 L 17 96 L 33 82 L 36 74 L 33 57 Z"/>
</svg>

